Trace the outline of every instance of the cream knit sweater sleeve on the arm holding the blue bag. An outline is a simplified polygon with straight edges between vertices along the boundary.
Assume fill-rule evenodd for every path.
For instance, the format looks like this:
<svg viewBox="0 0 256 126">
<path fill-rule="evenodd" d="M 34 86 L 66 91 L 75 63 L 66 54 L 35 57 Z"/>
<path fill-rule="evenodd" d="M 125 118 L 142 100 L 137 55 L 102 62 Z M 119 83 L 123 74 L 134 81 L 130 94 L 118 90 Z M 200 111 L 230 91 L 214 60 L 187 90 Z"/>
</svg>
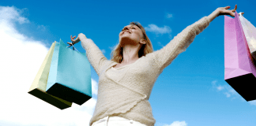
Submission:
<svg viewBox="0 0 256 126">
<path fill-rule="evenodd" d="M 100 76 L 100 72 L 107 62 L 107 57 L 105 57 L 99 47 L 93 43 L 92 39 L 87 39 L 82 35 L 80 40 L 81 46 L 86 50 L 88 61 L 91 63 L 93 69 L 95 69 L 98 76 Z"/>
</svg>

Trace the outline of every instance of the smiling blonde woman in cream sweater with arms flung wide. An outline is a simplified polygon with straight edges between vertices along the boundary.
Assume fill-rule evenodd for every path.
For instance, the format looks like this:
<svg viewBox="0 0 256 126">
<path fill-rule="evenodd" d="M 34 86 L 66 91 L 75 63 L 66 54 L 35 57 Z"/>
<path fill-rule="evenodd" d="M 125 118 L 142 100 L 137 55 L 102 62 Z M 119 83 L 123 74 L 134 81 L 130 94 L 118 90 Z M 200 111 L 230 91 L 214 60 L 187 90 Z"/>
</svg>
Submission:
<svg viewBox="0 0 256 126">
<path fill-rule="evenodd" d="M 208 17 L 203 17 L 185 28 L 161 50 L 152 50 L 152 44 L 141 24 L 131 23 L 119 33 L 119 44 L 112 52 L 111 61 L 101 50 L 79 34 L 73 43 L 81 41 L 88 61 L 99 76 L 96 108 L 90 126 L 101 125 L 154 125 L 149 96 L 160 73 L 193 42 L 196 35 L 219 15 L 235 17 L 235 9 L 220 7 Z"/>
</svg>

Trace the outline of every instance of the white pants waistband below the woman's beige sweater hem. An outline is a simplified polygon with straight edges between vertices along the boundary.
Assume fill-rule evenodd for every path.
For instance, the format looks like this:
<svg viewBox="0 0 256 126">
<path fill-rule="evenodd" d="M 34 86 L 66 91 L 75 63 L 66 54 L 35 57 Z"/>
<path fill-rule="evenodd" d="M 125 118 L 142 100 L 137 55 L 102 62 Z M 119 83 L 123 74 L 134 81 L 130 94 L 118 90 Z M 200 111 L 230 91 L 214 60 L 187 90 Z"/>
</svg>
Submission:
<svg viewBox="0 0 256 126">
<path fill-rule="evenodd" d="M 97 120 L 92 126 L 147 126 L 135 120 L 128 120 L 123 117 L 104 117 Z"/>
</svg>

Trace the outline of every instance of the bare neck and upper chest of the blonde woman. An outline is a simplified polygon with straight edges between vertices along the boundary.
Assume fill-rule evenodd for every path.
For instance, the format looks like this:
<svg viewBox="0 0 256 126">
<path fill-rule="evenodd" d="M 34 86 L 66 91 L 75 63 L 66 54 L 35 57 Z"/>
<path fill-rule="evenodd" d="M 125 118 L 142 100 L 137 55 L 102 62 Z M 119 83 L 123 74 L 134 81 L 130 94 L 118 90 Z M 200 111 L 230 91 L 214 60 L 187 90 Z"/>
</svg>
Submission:
<svg viewBox="0 0 256 126">
<path fill-rule="evenodd" d="M 130 62 L 137 61 L 138 51 L 140 49 L 140 45 L 126 45 L 122 48 L 122 64 L 127 64 Z"/>
</svg>

